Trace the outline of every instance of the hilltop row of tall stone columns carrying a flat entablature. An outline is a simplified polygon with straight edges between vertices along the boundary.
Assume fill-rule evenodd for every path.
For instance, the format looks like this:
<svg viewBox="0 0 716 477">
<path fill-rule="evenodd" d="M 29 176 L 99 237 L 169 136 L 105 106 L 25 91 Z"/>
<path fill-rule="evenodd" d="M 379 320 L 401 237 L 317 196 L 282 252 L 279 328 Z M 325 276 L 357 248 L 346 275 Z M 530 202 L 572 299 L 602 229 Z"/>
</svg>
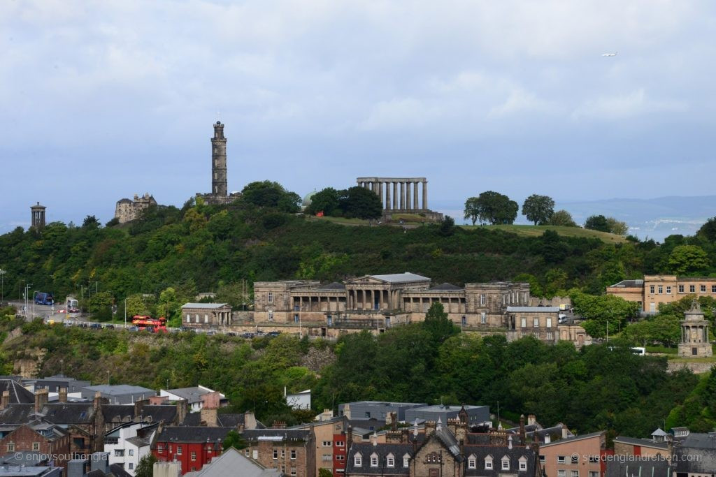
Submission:
<svg viewBox="0 0 716 477">
<path fill-rule="evenodd" d="M 425 177 L 358 177 L 356 182 L 359 187 L 375 192 L 385 210 L 427 210 Z M 418 200 L 421 189 L 422 207 Z"/>
</svg>

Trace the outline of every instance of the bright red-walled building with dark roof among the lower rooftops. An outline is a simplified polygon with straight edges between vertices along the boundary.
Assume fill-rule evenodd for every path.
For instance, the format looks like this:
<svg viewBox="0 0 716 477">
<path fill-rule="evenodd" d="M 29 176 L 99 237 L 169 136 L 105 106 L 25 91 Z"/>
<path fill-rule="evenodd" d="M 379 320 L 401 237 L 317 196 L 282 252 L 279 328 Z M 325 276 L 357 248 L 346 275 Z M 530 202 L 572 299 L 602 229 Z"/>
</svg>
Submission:
<svg viewBox="0 0 716 477">
<path fill-rule="evenodd" d="M 152 447 L 159 461 L 178 461 L 181 473 L 200 471 L 205 463 L 221 455 L 223 441 L 235 428 L 220 427 L 165 427 Z"/>
</svg>

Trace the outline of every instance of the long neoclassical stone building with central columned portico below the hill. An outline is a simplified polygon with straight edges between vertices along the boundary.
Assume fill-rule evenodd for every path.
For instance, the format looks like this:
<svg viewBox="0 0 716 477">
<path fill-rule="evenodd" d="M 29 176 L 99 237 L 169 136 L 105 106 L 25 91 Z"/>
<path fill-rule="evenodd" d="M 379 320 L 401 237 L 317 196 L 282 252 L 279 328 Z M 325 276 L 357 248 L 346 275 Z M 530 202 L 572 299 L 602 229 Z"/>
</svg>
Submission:
<svg viewBox="0 0 716 477">
<path fill-rule="evenodd" d="M 415 273 L 364 275 L 321 285 L 314 280 L 255 282 L 256 323 L 384 329 L 422 321 L 432 303 L 442 303 L 454 323 L 485 331 L 507 328 L 508 306 L 527 306 L 528 283 L 432 285 Z"/>
</svg>

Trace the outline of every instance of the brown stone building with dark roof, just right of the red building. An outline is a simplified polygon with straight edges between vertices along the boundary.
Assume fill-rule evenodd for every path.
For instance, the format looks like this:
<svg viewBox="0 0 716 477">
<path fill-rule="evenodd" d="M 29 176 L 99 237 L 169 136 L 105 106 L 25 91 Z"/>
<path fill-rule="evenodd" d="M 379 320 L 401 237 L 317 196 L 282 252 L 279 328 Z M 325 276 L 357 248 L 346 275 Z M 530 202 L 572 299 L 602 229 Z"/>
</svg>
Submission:
<svg viewBox="0 0 716 477">
<path fill-rule="evenodd" d="M 249 429 L 242 436 L 244 455 L 286 476 L 316 476 L 316 443 L 312 429 Z"/>
</svg>

